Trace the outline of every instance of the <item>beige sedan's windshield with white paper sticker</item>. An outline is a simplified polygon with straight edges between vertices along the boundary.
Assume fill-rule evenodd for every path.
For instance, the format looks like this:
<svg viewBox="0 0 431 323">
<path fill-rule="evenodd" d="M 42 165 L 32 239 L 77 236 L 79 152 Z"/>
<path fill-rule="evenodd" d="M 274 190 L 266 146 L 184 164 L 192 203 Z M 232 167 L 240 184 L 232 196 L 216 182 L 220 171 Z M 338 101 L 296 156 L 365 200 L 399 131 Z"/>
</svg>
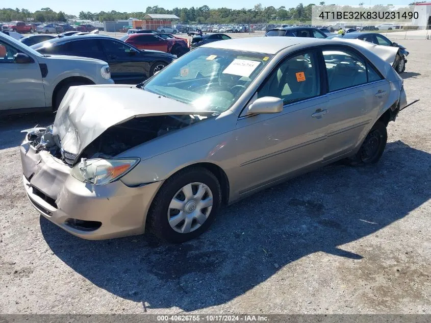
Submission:
<svg viewBox="0 0 431 323">
<path fill-rule="evenodd" d="M 144 86 L 144 90 L 198 107 L 224 112 L 259 75 L 272 55 L 197 48 L 174 61 Z"/>
</svg>

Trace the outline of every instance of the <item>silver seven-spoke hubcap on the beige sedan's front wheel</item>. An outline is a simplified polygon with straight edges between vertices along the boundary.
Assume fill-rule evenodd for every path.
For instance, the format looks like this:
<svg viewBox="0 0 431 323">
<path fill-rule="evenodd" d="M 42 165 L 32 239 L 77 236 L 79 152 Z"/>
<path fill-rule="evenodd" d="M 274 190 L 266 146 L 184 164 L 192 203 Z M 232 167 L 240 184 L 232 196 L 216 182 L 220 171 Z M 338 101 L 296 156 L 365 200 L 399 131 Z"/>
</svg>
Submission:
<svg viewBox="0 0 431 323">
<path fill-rule="evenodd" d="M 204 183 L 189 183 L 175 193 L 169 204 L 169 225 L 176 232 L 190 233 L 204 224 L 212 207 L 211 189 Z"/>
</svg>

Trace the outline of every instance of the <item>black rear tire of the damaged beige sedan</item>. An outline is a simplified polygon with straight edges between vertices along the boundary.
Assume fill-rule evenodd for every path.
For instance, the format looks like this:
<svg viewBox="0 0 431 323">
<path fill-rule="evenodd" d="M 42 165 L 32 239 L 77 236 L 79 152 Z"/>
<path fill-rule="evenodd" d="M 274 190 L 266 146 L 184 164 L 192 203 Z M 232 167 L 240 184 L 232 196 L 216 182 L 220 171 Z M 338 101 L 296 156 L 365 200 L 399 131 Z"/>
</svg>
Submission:
<svg viewBox="0 0 431 323">
<path fill-rule="evenodd" d="M 385 123 L 377 121 L 364 139 L 356 155 L 345 159 L 350 166 L 361 166 L 377 163 L 383 155 L 388 141 Z"/>
</svg>

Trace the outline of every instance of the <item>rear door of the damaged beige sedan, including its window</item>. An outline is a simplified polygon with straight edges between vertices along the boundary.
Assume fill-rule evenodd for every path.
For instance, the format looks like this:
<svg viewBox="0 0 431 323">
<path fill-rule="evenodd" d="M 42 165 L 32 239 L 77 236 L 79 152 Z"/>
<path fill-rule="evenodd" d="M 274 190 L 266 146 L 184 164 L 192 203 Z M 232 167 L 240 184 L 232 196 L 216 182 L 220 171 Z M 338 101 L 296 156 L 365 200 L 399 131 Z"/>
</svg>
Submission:
<svg viewBox="0 0 431 323">
<path fill-rule="evenodd" d="M 329 102 L 324 162 L 331 162 L 362 142 L 390 89 L 389 82 L 351 47 L 326 47 L 322 53 Z"/>
</svg>

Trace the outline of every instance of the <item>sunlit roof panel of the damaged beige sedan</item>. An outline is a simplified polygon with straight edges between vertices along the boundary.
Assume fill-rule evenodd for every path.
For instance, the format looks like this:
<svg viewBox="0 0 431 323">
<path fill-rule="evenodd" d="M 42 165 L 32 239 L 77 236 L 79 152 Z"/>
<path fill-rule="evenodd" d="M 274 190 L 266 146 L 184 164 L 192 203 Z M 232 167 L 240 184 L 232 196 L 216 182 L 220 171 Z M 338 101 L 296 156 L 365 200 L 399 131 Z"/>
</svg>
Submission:
<svg viewBox="0 0 431 323">
<path fill-rule="evenodd" d="M 233 49 L 236 51 L 276 54 L 296 44 L 333 44 L 331 40 L 311 37 L 248 37 L 214 41 L 201 47 Z"/>
</svg>

